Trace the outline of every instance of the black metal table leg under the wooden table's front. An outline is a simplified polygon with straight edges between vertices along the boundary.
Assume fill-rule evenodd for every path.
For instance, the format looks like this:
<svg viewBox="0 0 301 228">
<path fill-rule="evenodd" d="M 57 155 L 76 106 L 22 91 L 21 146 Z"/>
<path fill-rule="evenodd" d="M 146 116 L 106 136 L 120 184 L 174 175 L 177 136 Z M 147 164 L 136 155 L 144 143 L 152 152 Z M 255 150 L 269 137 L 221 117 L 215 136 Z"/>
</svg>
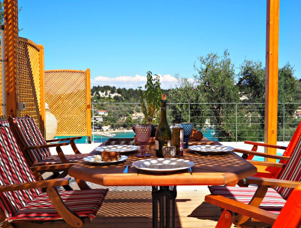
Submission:
<svg viewBox="0 0 301 228">
<path fill-rule="evenodd" d="M 164 226 L 164 197 L 166 202 L 165 217 L 166 226 Z M 170 201 L 172 201 L 172 228 L 175 228 L 175 198 L 177 197 L 177 186 L 173 186 L 172 190 L 169 190 L 169 186 L 152 186 L 152 198 L 153 198 L 153 228 L 158 227 L 158 202 L 159 202 L 159 217 L 160 228 L 169 228 L 169 212 Z"/>
</svg>

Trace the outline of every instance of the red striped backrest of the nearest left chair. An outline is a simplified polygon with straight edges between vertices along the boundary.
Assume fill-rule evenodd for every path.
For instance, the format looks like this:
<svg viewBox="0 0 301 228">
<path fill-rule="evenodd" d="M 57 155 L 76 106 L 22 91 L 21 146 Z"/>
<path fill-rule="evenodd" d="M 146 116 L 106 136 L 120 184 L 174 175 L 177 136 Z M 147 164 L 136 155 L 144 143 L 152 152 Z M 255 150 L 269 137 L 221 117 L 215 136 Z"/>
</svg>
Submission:
<svg viewBox="0 0 301 228">
<path fill-rule="evenodd" d="M 36 181 L 36 178 L 26 165 L 11 129 L 0 127 L 0 185 L 32 181 Z M 6 218 L 10 218 L 41 192 L 42 189 L 30 189 L 0 193 L 0 207 Z"/>
</svg>

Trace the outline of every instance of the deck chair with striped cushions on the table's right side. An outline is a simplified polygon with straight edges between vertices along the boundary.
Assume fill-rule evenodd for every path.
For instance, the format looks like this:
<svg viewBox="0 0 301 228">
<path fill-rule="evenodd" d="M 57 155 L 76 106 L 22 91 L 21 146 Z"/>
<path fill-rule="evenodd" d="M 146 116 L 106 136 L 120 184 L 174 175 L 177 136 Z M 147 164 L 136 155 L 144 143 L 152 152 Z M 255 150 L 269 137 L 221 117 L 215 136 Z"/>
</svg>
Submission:
<svg viewBox="0 0 301 228">
<path fill-rule="evenodd" d="M 213 195 L 221 195 L 241 203 L 259 207 L 265 211 L 279 214 L 293 188 L 301 182 L 301 140 L 295 145 L 295 152 L 292 153 L 285 167 L 281 170 L 278 179 L 264 177 L 248 177 L 246 183 L 255 184 L 249 187 L 233 186 L 208 186 Z M 270 188 L 269 186 L 275 186 Z M 237 215 L 234 224 L 238 227 L 246 225 L 250 217 Z M 259 225 L 258 225 L 259 226 Z M 264 225 L 262 225 L 264 226 Z M 262 227 L 260 226 L 260 227 Z"/>
</svg>

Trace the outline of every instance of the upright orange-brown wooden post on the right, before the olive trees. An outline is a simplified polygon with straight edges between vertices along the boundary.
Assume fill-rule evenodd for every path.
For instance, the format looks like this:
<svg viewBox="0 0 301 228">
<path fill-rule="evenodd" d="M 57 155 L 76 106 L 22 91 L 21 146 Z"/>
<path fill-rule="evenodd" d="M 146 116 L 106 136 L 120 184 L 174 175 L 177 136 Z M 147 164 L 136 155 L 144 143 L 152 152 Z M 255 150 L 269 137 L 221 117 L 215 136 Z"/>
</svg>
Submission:
<svg viewBox="0 0 301 228">
<path fill-rule="evenodd" d="M 278 49 L 279 0 L 267 0 L 265 56 L 265 135 L 264 142 L 277 143 L 278 110 Z M 265 148 L 265 153 L 276 154 L 276 149 Z M 267 159 L 275 162 L 275 159 Z"/>
</svg>

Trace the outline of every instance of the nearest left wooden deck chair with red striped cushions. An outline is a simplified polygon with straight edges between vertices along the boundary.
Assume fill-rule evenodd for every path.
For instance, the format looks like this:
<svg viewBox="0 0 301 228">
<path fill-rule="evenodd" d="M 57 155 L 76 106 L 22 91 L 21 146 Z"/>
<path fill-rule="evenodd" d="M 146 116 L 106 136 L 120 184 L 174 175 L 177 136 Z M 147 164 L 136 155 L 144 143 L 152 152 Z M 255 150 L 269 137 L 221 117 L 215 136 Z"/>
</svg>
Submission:
<svg viewBox="0 0 301 228">
<path fill-rule="evenodd" d="M 57 191 L 54 186 L 70 183 L 66 177 L 37 181 L 6 126 L 0 127 L 0 174 L 2 227 L 81 227 L 95 218 L 108 191 Z"/>
</svg>

